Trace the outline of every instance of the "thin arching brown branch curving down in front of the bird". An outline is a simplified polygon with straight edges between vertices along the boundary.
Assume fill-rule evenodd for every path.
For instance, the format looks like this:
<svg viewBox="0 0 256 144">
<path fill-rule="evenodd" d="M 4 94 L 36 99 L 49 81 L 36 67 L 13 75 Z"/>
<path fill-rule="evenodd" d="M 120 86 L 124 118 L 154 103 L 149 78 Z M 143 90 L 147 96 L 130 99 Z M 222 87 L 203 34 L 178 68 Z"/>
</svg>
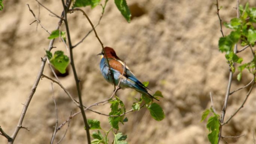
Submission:
<svg viewBox="0 0 256 144">
<path fill-rule="evenodd" d="M 70 10 L 69 10 L 69 12 L 73 12 L 73 11 L 80 11 L 80 12 L 82 12 L 82 13 L 83 13 L 83 15 L 85 15 L 85 17 L 88 19 L 89 23 L 91 24 L 92 29 L 93 29 L 93 31 L 94 31 L 94 33 L 95 33 L 95 36 L 97 37 L 98 41 L 99 41 L 99 42 L 100 42 L 100 44 L 101 44 L 102 51 L 103 51 L 104 55 L 106 56 L 106 59 L 107 59 L 107 65 L 109 66 L 110 75 L 111 75 L 111 78 L 112 78 L 112 80 L 113 80 L 113 84 L 114 84 L 114 89 L 116 89 L 116 84 L 115 84 L 114 74 L 113 74 L 112 70 L 110 69 L 109 59 L 108 59 L 108 57 L 107 57 L 107 55 L 106 55 L 106 52 L 105 52 L 105 49 L 104 49 L 103 43 L 101 42 L 101 40 L 100 40 L 100 38 L 98 37 L 98 34 L 97 34 L 97 32 L 96 32 L 96 30 L 95 30 L 95 28 L 94 28 L 94 25 L 92 24 L 92 22 L 91 22 L 91 20 L 89 19 L 88 15 L 86 15 L 85 11 L 83 11 L 82 9 L 70 9 Z M 73 48 L 73 47 L 72 47 L 72 48 Z M 70 49 L 71 49 L 71 48 L 70 48 Z"/>
</svg>

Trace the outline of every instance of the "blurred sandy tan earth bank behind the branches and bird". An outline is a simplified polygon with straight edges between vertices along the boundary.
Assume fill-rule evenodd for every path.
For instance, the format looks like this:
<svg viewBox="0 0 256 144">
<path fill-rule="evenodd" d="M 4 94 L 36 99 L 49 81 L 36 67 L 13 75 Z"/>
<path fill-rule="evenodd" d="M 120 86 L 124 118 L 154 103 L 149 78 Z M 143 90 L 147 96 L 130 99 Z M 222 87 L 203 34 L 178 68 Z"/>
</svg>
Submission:
<svg viewBox="0 0 256 144">
<path fill-rule="evenodd" d="M 41 0 L 42 4 L 54 13 L 61 14 L 60 0 Z M 146 109 L 128 113 L 128 122 L 121 126 L 120 132 L 128 135 L 129 144 L 204 144 L 208 130 L 206 122 L 200 122 L 201 114 L 210 108 L 210 92 L 217 113 L 221 113 L 228 83 L 229 67 L 224 54 L 218 51 L 221 37 L 219 19 L 216 15 L 215 0 L 127 0 L 131 9 L 132 20 L 127 23 L 109 0 L 100 25 L 96 28 L 104 46 L 116 50 L 117 55 L 142 82 L 149 81 L 152 93 L 160 90 L 164 98 L 158 102 L 164 109 L 165 119 L 157 122 L 150 117 Z M 245 4 L 246 0 L 240 0 Z M 250 6 L 256 1 L 250 0 Z M 101 1 L 104 3 L 104 0 Z M 4 0 L 4 9 L 0 11 L 0 126 L 11 135 L 16 128 L 23 103 L 27 99 L 41 64 L 41 57 L 48 48 L 49 36 L 40 25 L 37 26 L 31 9 L 43 26 L 49 31 L 55 30 L 59 19 L 52 16 L 34 0 Z M 236 16 L 236 0 L 220 0 L 220 17 L 223 22 Z M 101 16 L 101 7 L 82 8 L 94 24 Z M 39 14 L 40 12 L 40 14 Z M 85 36 L 91 26 L 80 12 L 68 15 L 73 44 Z M 61 30 L 65 31 L 64 25 Z M 227 29 L 223 29 L 228 34 Z M 65 46 L 55 40 L 55 50 Z M 91 33 L 74 50 L 74 62 L 81 80 L 82 98 L 85 105 L 108 98 L 113 86 L 107 83 L 100 73 L 99 62 L 101 45 Z M 240 56 L 249 62 L 250 50 Z M 46 64 L 43 72 L 52 76 Z M 243 74 L 240 83 L 232 83 L 232 90 L 250 82 L 251 76 Z M 77 98 L 76 87 L 71 69 L 61 82 Z M 58 107 L 59 123 L 64 122 L 79 108 L 68 98 L 64 91 L 54 84 Z M 226 118 L 241 105 L 248 89 L 230 96 Z M 134 97 L 139 95 L 132 89 L 119 90 L 118 96 L 124 101 L 127 110 L 131 108 Z M 78 98 L 77 98 L 78 99 Z M 109 113 L 110 105 L 94 107 L 101 113 Z M 223 135 L 240 138 L 226 138 L 229 143 L 252 144 L 253 129 L 256 128 L 256 93 L 253 90 L 244 108 L 241 109 L 228 125 L 223 127 Z M 86 111 L 88 119 L 101 120 L 101 126 L 109 128 L 106 116 Z M 51 82 L 40 80 L 36 93 L 28 107 L 23 126 L 15 140 L 16 144 L 45 144 L 51 140 L 55 125 L 55 107 L 52 99 Z M 66 126 L 57 133 L 56 143 L 64 134 Z M 7 143 L 0 137 L 0 143 Z M 70 122 L 65 143 L 86 143 L 82 117 L 76 116 Z M 225 143 L 222 141 L 221 143 Z"/>
</svg>

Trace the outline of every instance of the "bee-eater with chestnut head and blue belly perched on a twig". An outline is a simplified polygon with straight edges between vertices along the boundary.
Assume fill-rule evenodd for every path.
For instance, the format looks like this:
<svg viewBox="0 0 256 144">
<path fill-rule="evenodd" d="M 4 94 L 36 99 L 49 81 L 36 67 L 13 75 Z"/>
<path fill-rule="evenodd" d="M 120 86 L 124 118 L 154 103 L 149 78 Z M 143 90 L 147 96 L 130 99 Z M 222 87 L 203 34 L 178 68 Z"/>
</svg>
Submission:
<svg viewBox="0 0 256 144">
<path fill-rule="evenodd" d="M 141 94 L 147 95 L 151 99 L 156 99 L 147 91 L 150 89 L 144 86 L 143 83 L 141 83 L 134 76 L 128 66 L 125 65 L 125 63 L 116 55 L 116 52 L 113 48 L 106 46 L 104 47 L 104 50 L 102 50 L 101 53 L 99 53 L 98 55 L 101 55 L 100 71 L 104 79 L 107 80 L 107 82 L 112 84 L 113 82 L 115 82 L 115 85 L 118 85 L 122 77 L 118 89 L 132 88 L 135 89 L 137 92 L 140 92 Z M 110 68 L 107 59 L 109 60 Z M 110 73 L 110 70 L 112 71 L 112 75 Z M 123 72 L 124 74 L 122 76 Z M 159 101 L 158 99 L 156 100 Z"/>
</svg>

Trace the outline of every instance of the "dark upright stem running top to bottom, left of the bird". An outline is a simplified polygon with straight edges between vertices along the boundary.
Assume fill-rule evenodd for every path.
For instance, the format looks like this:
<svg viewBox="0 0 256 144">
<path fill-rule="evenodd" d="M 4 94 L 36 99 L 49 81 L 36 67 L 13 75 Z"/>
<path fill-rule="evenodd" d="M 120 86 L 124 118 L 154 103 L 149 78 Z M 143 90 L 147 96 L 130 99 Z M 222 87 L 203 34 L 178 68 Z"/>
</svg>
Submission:
<svg viewBox="0 0 256 144">
<path fill-rule="evenodd" d="M 64 23 L 65 23 L 65 26 L 66 26 L 66 31 L 67 31 L 67 38 L 68 38 L 68 46 L 69 46 L 69 52 L 70 52 L 70 65 L 72 67 L 72 70 L 73 70 L 73 74 L 74 74 L 74 79 L 76 81 L 76 89 L 77 89 L 77 94 L 78 94 L 78 98 L 79 98 L 79 108 L 80 108 L 80 111 L 82 113 L 82 116 L 83 116 L 83 122 L 85 124 L 85 130 L 86 130 L 86 135 L 87 135 L 87 141 L 88 141 L 88 144 L 91 144 L 91 138 L 90 138 L 90 132 L 89 132 L 89 125 L 87 123 L 87 119 L 86 119 L 86 115 L 85 115 L 85 111 L 83 111 L 83 102 L 82 102 L 82 94 L 81 94 L 81 90 L 80 90 L 80 86 L 79 86 L 79 79 L 77 77 L 77 73 L 76 73 L 76 68 L 75 68 L 75 65 L 74 65 L 74 58 L 73 58 L 73 46 L 72 46 L 72 43 L 71 43 L 71 39 L 70 39 L 70 32 L 69 32 L 69 28 L 68 28 L 68 22 L 67 22 L 67 12 L 68 12 L 68 7 L 65 6 L 64 4 L 64 0 L 61 0 L 62 1 L 62 4 L 63 4 L 63 8 L 64 8 Z M 68 1 L 68 0 L 67 0 Z M 69 1 L 70 3 L 71 1 Z"/>
</svg>

